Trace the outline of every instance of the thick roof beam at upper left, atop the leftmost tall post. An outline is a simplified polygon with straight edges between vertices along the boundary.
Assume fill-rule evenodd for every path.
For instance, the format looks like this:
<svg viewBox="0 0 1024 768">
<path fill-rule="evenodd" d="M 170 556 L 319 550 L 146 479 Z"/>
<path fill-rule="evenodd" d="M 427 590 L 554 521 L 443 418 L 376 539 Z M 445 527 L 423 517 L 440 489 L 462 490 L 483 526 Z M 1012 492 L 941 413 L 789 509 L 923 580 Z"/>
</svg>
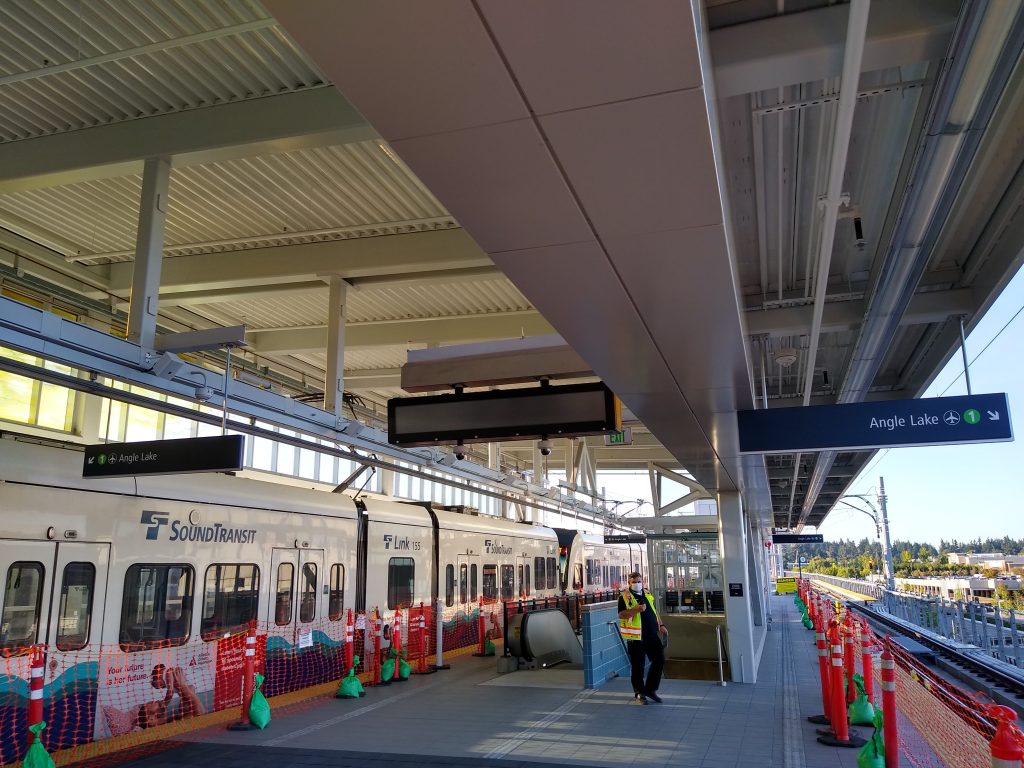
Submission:
<svg viewBox="0 0 1024 768">
<path fill-rule="evenodd" d="M 0 194 L 366 141 L 377 132 L 330 86 L 0 144 Z"/>
</svg>

